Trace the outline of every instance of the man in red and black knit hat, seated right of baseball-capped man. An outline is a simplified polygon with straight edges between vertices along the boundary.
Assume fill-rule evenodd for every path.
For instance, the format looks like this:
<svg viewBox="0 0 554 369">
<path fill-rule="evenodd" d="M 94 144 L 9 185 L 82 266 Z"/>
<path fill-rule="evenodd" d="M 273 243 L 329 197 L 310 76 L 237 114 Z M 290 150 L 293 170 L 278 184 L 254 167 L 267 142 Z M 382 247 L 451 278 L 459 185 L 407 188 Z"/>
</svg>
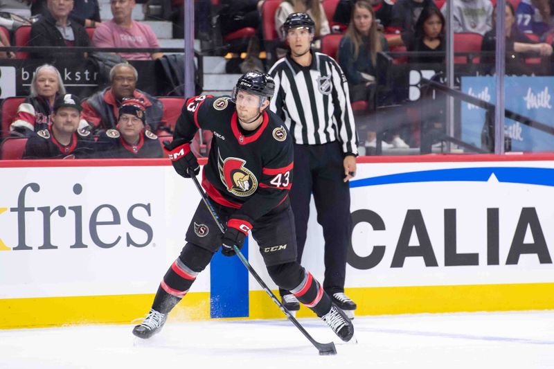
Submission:
<svg viewBox="0 0 554 369">
<path fill-rule="evenodd" d="M 102 158 L 161 158 L 158 136 L 146 125 L 146 114 L 140 100 L 123 100 L 118 111 L 116 129 L 102 132 L 98 138 L 98 156 Z"/>
</svg>

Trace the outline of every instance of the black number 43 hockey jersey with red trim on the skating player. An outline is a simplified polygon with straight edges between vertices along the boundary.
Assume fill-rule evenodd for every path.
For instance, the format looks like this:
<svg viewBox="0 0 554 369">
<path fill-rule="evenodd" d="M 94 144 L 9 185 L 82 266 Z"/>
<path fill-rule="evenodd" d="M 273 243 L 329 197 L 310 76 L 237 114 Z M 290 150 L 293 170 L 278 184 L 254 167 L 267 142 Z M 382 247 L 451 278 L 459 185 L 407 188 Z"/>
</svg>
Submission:
<svg viewBox="0 0 554 369">
<path fill-rule="evenodd" d="M 293 147 L 276 114 L 266 109 L 263 123 L 243 132 L 231 98 L 196 96 L 183 106 L 173 139 L 191 141 L 199 128 L 213 132 L 202 186 L 218 204 L 237 208 L 234 218 L 252 224 L 288 201 Z"/>
</svg>

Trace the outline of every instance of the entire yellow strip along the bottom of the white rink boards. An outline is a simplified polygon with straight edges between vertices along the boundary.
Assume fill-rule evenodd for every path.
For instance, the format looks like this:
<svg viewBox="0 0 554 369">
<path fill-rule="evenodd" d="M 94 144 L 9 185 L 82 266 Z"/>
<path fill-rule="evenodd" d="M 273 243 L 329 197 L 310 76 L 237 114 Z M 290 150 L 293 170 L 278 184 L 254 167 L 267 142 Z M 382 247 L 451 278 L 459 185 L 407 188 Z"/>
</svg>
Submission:
<svg viewBox="0 0 554 369">
<path fill-rule="evenodd" d="M 278 295 L 278 291 L 274 291 Z M 346 289 L 357 316 L 446 312 L 496 312 L 554 309 L 554 283 L 373 287 Z M 0 329 L 74 324 L 131 324 L 148 312 L 153 294 L 10 298 L 0 300 Z M 251 319 L 284 318 L 265 291 L 250 291 Z M 298 317 L 314 317 L 302 307 Z M 210 293 L 190 293 L 170 321 L 210 319 Z"/>
</svg>

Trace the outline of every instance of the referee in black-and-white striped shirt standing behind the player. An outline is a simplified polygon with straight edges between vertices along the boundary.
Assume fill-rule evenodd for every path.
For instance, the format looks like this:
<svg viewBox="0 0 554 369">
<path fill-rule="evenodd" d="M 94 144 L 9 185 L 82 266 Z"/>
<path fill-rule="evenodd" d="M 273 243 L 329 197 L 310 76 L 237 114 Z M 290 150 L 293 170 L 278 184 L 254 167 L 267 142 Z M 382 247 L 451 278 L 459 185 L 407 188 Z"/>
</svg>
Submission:
<svg viewBox="0 0 554 369">
<path fill-rule="evenodd" d="M 270 109 L 283 118 L 294 142 L 290 198 L 298 262 L 306 241 L 313 192 L 317 221 L 325 239 L 323 289 L 337 306 L 353 316 L 356 304 L 344 294 L 346 253 L 352 233 L 348 180 L 355 176 L 357 156 L 348 83 L 337 62 L 311 50 L 314 21 L 310 15 L 289 15 L 283 31 L 290 51 L 269 71 L 276 83 Z M 280 294 L 289 310 L 300 309 L 289 291 L 280 290 Z"/>
</svg>

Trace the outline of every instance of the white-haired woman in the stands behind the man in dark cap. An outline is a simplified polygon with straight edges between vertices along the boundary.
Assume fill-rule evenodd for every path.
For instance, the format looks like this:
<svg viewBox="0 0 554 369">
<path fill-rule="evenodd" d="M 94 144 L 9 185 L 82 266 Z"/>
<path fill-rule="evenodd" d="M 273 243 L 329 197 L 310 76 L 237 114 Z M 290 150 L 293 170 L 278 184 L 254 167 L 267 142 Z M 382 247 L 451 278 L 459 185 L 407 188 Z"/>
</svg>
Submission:
<svg viewBox="0 0 554 369">
<path fill-rule="evenodd" d="M 62 76 L 55 66 L 44 64 L 35 69 L 30 82 L 30 94 L 17 108 L 10 125 L 12 134 L 31 136 L 33 132 L 47 129 L 51 124 L 55 99 L 65 93 Z M 79 128 L 87 126 L 86 120 L 80 120 Z"/>
</svg>

